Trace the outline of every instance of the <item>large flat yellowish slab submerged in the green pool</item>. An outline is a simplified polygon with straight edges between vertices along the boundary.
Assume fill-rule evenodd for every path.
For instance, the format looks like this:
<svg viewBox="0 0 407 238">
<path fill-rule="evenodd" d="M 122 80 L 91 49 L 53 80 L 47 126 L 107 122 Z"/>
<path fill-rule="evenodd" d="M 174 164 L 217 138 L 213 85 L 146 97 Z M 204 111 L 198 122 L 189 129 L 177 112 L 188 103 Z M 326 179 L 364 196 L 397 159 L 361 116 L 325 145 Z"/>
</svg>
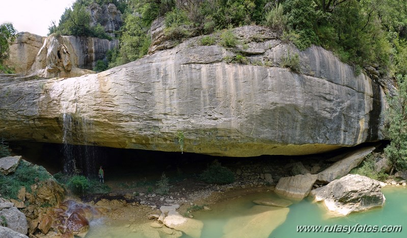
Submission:
<svg viewBox="0 0 407 238">
<path fill-rule="evenodd" d="M 247 213 L 228 221 L 223 237 L 268 237 L 283 224 L 289 210 L 282 207 L 253 206 Z"/>
</svg>

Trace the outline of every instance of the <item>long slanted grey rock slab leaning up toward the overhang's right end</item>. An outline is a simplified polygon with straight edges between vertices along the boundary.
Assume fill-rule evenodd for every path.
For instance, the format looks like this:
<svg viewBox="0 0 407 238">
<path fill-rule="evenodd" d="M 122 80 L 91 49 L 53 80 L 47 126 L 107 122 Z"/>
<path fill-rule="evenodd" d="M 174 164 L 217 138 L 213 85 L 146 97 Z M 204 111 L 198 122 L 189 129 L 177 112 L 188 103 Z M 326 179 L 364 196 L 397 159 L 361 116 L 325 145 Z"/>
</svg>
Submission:
<svg viewBox="0 0 407 238">
<path fill-rule="evenodd" d="M 329 183 L 345 176 L 351 169 L 360 165 L 363 159 L 374 149 L 375 147 L 371 146 L 349 152 L 342 160 L 335 162 L 327 169 L 319 172 L 317 180 Z"/>
</svg>

